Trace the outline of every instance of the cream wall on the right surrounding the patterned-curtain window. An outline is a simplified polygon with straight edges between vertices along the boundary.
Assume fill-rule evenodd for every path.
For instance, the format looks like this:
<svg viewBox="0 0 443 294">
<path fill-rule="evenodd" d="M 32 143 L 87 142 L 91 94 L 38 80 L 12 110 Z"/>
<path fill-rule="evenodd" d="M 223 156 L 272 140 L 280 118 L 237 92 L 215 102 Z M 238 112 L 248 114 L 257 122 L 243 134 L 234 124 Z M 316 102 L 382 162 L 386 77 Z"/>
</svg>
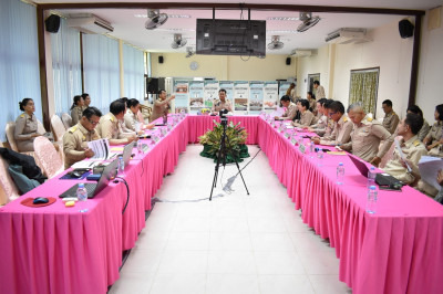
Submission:
<svg viewBox="0 0 443 294">
<path fill-rule="evenodd" d="M 392 101 L 394 111 L 402 116 L 408 107 L 413 39 L 400 38 L 398 21 L 371 30 L 368 34 L 372 42 L 334 46 L 327 44 L 319 50 L 317 56 L 300 57 L 297 76 L 298 81 L 303 82 L 299 83 L 303 87 L 299 86 L 299 94 L 305 96 L 305 78 L 308 74 L 319 72 L 320 84 L 324 86 L 327 97 L 341 101 L 347 107 L 351 70 L 380 67 L 377 117 L 384 116 L 381 104 L 388 98 Z"/>
</svg>

